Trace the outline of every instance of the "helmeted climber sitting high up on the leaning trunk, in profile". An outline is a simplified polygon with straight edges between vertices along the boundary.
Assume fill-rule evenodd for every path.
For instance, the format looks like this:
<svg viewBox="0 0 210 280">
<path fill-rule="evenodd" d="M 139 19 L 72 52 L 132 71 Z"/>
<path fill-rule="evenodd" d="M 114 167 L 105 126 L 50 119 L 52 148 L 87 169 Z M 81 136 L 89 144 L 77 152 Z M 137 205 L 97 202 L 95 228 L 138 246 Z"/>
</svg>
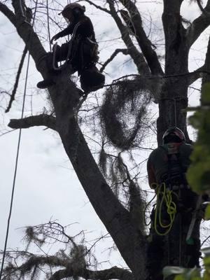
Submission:
<svg viewBox="0 0 210 280">
<path fill-rule="evenodd" d="M 85 92 L 98 90 L 104 85 L 104 75 L 95 66 L 98 61 L 98 45 L 90 18 L 85 15 L 85 6 L 70 3 L 61 13 L 69 22 L 68 27 L 51 38 L 50 43 L 71 34 L 71 40 L 61 46 L 54 45 L 46 57 L 50 76 L 37 84 L 38 88 L 54 85 L 52 75 L 59 74 L 57 62 L 71 64 L 72 73 L 78 71 L 81 87 Z M 52 74 L 52 75 L 51 75 Z"/>
</svg>

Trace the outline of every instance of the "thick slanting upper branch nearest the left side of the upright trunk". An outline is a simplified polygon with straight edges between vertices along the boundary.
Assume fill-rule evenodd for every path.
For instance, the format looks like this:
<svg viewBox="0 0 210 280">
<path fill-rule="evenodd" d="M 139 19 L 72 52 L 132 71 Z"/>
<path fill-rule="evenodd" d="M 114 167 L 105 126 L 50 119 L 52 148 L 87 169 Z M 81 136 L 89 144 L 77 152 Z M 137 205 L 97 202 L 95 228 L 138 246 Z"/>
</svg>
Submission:
<svg viewBox="0 0 210 280">
<path fill-rule="evenodd" d="M 163 74 L 160 62 L 158 60 L 158 55 L 152 48 L 152 43 L 146 36 L 144 28 L 142 27 L 142 20 L 139 10 L 135 3 L 131 0 L 120 0 L 120 2 L 127 8 L 130 14 L 130 21 L 132 22 L 132 27 L 134 28 L 134 36 L 137 38 L 139 47 L 141 48 L 148 66 L 151 69 L 151 73 L 155 75 Z"/>
</svg>

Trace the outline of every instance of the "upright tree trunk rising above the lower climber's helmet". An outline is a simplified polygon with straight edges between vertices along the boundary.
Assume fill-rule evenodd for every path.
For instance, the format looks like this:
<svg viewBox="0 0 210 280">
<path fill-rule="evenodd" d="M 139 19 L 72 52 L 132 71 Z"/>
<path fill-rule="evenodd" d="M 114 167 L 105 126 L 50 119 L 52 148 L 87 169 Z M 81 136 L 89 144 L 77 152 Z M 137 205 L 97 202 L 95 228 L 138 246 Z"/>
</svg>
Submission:
<svg viewBox="0 0 210 280">
<path fill-rule="evenodd" d="M 188 73 L 189 47 L 186 29 L 181 22 L 182 0 L 164 1 L 162 23 L 165 31 L 165 75 Z M 188 77 L 167 78 L 159 101 L 158 145 L 168 127 L 177 126 L 187 134 L 186 107 L 188 106 Z"/>
</svg>

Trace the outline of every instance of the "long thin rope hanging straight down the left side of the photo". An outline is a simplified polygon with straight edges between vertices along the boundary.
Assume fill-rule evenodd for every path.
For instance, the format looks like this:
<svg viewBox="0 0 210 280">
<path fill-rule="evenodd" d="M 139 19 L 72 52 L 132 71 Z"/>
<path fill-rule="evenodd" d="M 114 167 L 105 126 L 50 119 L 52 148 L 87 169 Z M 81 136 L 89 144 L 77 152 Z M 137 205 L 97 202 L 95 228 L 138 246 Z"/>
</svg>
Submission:
<svg viewBox="0 0 210 280">
<path fill-rule="evenodd" d="M 35 10 L 34 10 L 34 18 L 33 18 L 33 22 L 32 22 L 32 27 L 34 26 L 37 3 L 38 3 L 38 0 L 36 0 L 36 6 L 35 6 Z M 22 8 L 22 6 L 21 6 L 21 8 Z M 31 39 L 31 34 L 30 34 L 29 41 L 30 41 L 30 39 Z M 25 97 L 26 97 L 27 80 L 28 80 L 28 74 L 29 74 L 29 62 L 30 62 L 30 54 L 28 54 L 28 60 L 27 60 L 27 71 L 26 71 L 26 76 L 25 76 L 25 88 L 24 88 L 23 101 L 22 101 L 21 120 L 23 118 L 24 109 L 25 109 Z M 15 171 L 14 171 L 14 176 L 13 176 L 13 188 L 12 188 L 11 199 L 10 199 L 10 210 L 9 210 L 9 214 L 8 214 L 8 223 L 7 223 L 7 228 L 6 228 L 6 238 L 5 238 L 5 242 L 4 242 L 3 255 L 2 255 L 2 261 L 1 261 L 0 280 L 1 280 L 1 277 L 2 277 L 2 273 L 3 273 L 3 265 L 4 265 L 5 256 L 6 256 L 6 247 L 7 247 L 7 241 L 8 241 L 9 228 L 10 228 L 10 218 L 11 218 L 12 210 L 13 210 L 13 200 L 14 200 L 14 193 L 15 193 L 16 175 L 17 175 L 17 170 L 18 170 L 18 159 L 19 159 L 19 153 L 20 153 L 21 134 L 22 134 L 22 129 L 20 128 L 19 136 L 18 136 L 18 147 L 17 147 L 16 158 L 15 158 Z"/>
</svg>

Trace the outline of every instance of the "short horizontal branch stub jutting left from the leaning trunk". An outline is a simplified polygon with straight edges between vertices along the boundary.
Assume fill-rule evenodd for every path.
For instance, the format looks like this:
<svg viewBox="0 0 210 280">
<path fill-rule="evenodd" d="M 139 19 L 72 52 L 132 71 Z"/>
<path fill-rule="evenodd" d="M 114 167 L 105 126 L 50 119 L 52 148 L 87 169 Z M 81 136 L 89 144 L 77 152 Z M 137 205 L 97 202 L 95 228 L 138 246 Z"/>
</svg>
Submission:
<svg viewBox="0 0 210 280">
<path fill-rule="evenodd" d="M 41 114 L 38 116 L 30 116 L 23 119 L 12 119 L 10 120 L 8 126 L 15 129 L 45 126 L 51 128 L 51 130 L 56 130 L 56 119 L 55 117 Z"/>
</svg>

